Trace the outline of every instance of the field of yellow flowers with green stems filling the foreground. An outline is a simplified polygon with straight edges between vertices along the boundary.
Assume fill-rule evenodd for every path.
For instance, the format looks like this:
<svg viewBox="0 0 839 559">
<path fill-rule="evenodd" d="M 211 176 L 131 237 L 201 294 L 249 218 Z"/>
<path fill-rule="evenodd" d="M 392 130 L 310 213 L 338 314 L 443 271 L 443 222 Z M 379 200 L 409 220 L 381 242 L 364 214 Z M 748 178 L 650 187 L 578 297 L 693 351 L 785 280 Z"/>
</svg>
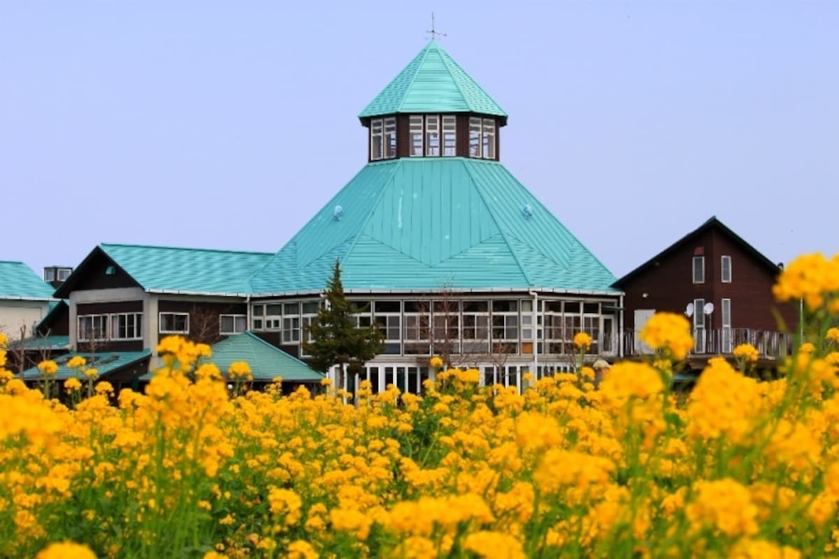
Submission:
<svg viewBox="0 0 839 559">
<path fill-rule="evenodd" d="M 834 334 L 777 379 L 721 357 L 676 394 L 686 321 L 648 326 L 658 355 L 597 387 L 590 370 L 519 391 L 453 369 L 421 395 L 365 382 L 350 403 L 279 383 L 231 393 L 181 338 L 116 406 L 105 382 L 50 400 L 0 375 L 0 556 L 835 555 Z"/>
</svg>

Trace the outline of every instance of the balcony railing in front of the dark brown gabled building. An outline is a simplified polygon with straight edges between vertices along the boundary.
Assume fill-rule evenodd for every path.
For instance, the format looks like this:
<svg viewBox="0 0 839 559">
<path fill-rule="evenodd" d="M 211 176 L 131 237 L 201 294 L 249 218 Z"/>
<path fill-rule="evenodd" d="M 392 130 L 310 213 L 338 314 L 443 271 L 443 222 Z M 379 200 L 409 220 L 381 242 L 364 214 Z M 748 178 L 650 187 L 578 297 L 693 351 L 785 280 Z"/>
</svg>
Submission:
<svg viewBox="0 0 839 559">
<path fill-rule="evenodd" d="M 740 344 L 752 344 L 761 357 L 782 357 L 792 355 L 795 343 L 792 334 L 752 328 L 694 329 L 692 334 L 695 342 L 692 355 L 726 355 Z M 652 353 L 638 339 L 638 332 L 627 330 L 621 335 L 624 355 Z"/>
</svg>

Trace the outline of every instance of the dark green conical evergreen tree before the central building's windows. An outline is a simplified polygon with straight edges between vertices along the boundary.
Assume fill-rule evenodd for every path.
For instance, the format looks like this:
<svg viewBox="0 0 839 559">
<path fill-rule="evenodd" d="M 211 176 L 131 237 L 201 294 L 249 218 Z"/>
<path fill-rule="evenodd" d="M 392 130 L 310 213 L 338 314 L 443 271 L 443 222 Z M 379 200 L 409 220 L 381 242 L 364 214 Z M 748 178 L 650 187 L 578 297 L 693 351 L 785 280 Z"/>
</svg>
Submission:
<svg viewBox="0 0 839 559">
<path fill-rule="evenodd" d="M 332 365 L 339 365 L 337 387 L 343 388 L 347 373 L 361 372 L 364 364 L 382 350 L 382 334 L 375 325 L 357 328 L 357 310 L 344 295 L 341 262 L 337 260 L 326 283 L 326 302 L 310 324 L 312 341 L 304 341 L 303 349 L 311 355 L 308 362 L 315 370 L 326 372 Z"/>
</svg>

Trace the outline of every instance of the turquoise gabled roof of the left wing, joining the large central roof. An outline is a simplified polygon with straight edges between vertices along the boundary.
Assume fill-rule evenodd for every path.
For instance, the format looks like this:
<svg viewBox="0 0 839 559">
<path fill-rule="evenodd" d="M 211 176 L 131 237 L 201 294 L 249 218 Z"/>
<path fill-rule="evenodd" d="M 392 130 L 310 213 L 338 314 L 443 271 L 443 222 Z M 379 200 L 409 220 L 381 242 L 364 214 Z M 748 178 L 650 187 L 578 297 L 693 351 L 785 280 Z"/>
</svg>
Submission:
<svg viewBox="0 0 839 559">
<path fill-rule="evenodd" d="M 212 251 L 166 246 L 99 246 L 146 291 L 247 294 L 248 278 L 272 256 L 267 252 Z"/>
</svg>

